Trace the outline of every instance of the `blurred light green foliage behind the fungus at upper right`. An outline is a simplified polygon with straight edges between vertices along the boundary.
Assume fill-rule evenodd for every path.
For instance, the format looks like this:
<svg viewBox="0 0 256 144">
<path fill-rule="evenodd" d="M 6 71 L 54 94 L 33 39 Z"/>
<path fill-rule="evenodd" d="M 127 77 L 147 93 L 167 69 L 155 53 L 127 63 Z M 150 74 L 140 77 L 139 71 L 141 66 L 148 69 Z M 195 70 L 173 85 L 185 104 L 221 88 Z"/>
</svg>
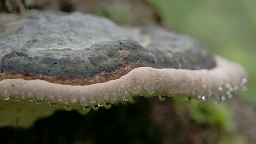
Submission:
<svg viewBox="0 0 256 144">
<path fill-rule="evenodd" d="M 162 24 L 187 33 L 214 54 L 240 63 L 248 72 L 248 89 L 240 94 L 256 104 L 255 0 L 147 0 Z"/>
</svg>

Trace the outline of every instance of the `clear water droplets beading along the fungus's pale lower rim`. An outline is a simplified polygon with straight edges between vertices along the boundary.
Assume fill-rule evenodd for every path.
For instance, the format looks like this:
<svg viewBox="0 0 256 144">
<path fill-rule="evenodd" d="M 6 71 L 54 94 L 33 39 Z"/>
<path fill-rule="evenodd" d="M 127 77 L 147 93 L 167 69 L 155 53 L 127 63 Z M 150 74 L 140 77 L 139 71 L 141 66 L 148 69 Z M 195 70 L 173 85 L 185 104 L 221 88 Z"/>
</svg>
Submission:
<svg viewBox="0 0 256 144">
<path fill-rule="evenodd" d="M 170 87 L 170 91 L 166 96 L 172 97 L 176 94 L 189 94 L 192 97 L 196 97 L 201 99 L 203 102 L 206 100 L 210 100 L 212 97 L 215 97 L 215 103 L 218 104 L 221 101 L 224 101 L 226 98 L 232 98 L 234 94 L 238 92 L 238 90 L 246 91 L 247 87 L 245 86 L 247 79 L 243 78 L 239 85 L 230 84 L 222 84 L 218 87 L 219 92 L 213 92 L 211 86 L 187 87 L 192 82 L 186 82 L 186 85 L 182 84 L 182 80 L 179 81 L 179 87 Z M 13 92 L 8 88 L 0 88 L 0 92 L 2 93 L 2 100 L 11 100 L 12 102 L 18 102 L 20 100 L 26 100 L 30 102 L 36 102 L 37 105 L 42 104 L 42 102 L 46 102 L 50 104 L 52 108 L 56 107 L 56 104 L 64 105 L 64 108 L 67 111 L 72 110 L 73 107 L 82 106 L 83 112 L 89 112 L 91 108 L 93 110 L 98 110 L 99 107 L 110 108 L 112 104 L 115 102 L 119 102 L 121 100 L 124 101 L 132 101 L 132 96 L 144 96 L 151 97 L 156 96 L 154 94 L 157 90 L 161 92 L 162 89 L 166 90 L 166 87 L 172 85 L 172 82 L 166 82 L 163 80 L 162 76 L 156 76 L 154 82 L 146 83 L 145 78 L 142 76 L 140 80 L 134 80 L 132 84 L 125 83 L 124 81 L 119 82 L 119 87 L 115 90 L 102 90 L 102 92 L 97 92 L 95 94 L 92 90 L 88 90 L 86 94 L 80 94 L 79 91 L 75 91 L 69 96 L 63 96 L 62 94 L 55 94 L 54 92 L 46 93 L 40 90 L 37 93 L 32 92 L 24 92 L 15 89 Z M 216 94 L 215 94 L 216 93 Z M 166 99 L 165 95 L 158 96 L 160 101 L 164 101 Z M 189 99 L 185 97 L 185 99 Z"/>
</svg>

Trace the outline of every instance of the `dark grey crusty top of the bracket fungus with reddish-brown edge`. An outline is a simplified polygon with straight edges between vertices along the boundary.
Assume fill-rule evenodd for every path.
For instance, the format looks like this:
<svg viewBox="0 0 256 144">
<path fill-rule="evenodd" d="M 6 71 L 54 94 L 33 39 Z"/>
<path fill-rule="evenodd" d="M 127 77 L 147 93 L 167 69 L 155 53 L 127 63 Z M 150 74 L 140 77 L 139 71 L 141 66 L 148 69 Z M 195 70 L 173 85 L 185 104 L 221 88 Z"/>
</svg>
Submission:
<svg viewBox="0 0 256 144">
<path fill-rule="evenodd" d="M 122 27 L 92 14 L 29 10 L 1 14 L 0 80 L 65 85 L 116 80 L 138 67 L 210 69 L 214 57 L 186 35 Z"/>
</svg>

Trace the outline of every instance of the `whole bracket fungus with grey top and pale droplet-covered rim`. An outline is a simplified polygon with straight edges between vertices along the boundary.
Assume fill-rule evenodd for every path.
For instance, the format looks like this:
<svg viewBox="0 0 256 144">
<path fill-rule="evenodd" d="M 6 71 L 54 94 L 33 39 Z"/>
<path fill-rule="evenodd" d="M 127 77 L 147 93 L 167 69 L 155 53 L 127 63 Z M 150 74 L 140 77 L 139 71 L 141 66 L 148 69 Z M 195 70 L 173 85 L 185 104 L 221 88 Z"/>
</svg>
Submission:
<svg viewBox="0 0 256 144">
<path fill-rule="evenodd" d="M 88 112 L 136 96 L 218 103 L 246 89 L 239 64 L 158 26 L 37 10 L 0 20 L 0 125 L 29 126 L 64 106 Z"/>
</svg>

